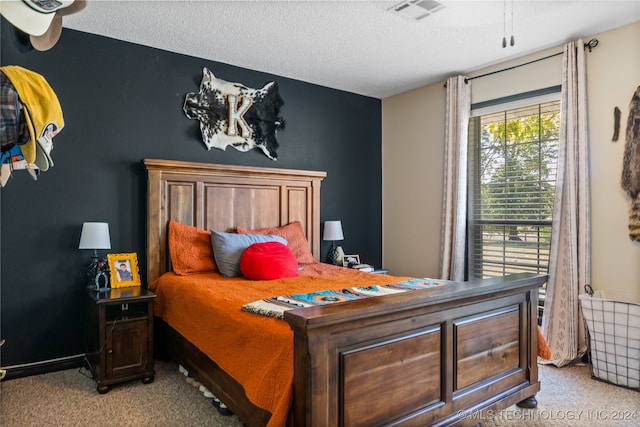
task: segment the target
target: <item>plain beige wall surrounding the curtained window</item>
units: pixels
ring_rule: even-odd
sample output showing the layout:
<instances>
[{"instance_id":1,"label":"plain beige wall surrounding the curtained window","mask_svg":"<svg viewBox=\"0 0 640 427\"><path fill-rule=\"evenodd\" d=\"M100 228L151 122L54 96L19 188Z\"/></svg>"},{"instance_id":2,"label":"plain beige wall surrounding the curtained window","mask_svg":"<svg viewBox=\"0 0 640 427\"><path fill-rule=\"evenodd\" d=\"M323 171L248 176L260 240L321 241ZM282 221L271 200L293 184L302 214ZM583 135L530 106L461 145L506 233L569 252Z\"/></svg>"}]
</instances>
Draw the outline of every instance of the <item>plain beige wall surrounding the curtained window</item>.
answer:
<instances>
[{"instance_id":1,"label":"plain beige wall surrounding the curtained window","mask_svg":"<svg viewBox=\"0 0 640 427\"><path fill-rule=\"evenodd\" d=\"M640 85L640 23L593 37L586 53L591 158L592 286L640 293L640 244L627 235L628 200L620 188L629 101ZM591 37L584 38L587 42ZM478 76L550 54L469 73ZM562 57L471 81L472 102L560 84ZM444 82L383 100L383 263L392 274L438 274L444 159ZM613 108L621 138L611 142Z\"/></svg>"}]
</instances>

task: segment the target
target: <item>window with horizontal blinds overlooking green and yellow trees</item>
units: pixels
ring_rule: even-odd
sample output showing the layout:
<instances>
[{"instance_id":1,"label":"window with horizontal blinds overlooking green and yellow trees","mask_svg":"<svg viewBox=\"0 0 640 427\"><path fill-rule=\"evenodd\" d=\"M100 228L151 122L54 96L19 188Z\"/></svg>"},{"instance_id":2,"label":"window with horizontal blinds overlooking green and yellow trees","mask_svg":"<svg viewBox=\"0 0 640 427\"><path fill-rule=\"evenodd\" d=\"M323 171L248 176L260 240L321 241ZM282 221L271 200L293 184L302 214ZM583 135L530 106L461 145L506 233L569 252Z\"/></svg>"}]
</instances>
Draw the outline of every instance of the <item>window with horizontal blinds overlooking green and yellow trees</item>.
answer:
<instances>
[{"instance_id":1,"label":"window with horizontal blinds overlooking green and yellow trees","mask_svg":"<svg viewBox=\"0 0 640 427\"><path fill-rule=\"evenodd\" d=\"M510 109L472 110L469 279L548 272L560 130L560 101L554 98L557 93Z\"/></svg>"}]
</instances>

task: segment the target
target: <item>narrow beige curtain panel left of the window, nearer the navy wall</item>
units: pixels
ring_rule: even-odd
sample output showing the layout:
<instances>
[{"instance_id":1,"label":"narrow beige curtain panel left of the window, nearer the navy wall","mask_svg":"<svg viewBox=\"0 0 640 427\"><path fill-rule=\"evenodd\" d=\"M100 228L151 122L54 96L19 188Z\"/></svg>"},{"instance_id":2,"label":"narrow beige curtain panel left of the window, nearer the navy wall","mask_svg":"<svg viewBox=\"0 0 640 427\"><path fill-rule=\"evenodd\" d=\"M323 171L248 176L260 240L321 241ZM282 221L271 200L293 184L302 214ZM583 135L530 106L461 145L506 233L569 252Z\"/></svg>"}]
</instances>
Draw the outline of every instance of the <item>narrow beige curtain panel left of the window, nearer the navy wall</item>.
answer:
<instances>
[{"instance_id":1,"label":"narrow beige curtain panel left of the window, nearer the navy wall","mask_svg":"<svg viewBox=\"0 0 640 427\"><path fill-rule=\"evenodd\" d=\"M467 139L471 88L464 76L447 79L447 111L440 277L464 280L467 217Z\"/></svg>"}]
</instances>

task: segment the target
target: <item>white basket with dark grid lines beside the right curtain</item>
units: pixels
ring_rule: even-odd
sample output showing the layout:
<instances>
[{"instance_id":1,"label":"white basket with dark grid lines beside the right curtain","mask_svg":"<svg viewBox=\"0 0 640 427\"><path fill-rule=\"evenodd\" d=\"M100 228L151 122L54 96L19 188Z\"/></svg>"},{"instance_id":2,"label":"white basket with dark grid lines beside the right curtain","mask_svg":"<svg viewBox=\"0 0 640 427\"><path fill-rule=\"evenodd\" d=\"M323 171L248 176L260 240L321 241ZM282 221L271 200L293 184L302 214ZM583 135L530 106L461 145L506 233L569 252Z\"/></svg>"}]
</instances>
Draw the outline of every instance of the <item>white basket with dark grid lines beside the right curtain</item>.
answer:
<instances>
[{"instance_id":1,"label":"white basket with dark grid lines beside the right curtain","mask_svg":"<svg viewBox=\"0 0 640 427\"><path fill-rule=\"evenodd\" d=\"M596 291L579 298L589 332L592 375L640 390L640 295Z\"/></svg>"}]
</instances>

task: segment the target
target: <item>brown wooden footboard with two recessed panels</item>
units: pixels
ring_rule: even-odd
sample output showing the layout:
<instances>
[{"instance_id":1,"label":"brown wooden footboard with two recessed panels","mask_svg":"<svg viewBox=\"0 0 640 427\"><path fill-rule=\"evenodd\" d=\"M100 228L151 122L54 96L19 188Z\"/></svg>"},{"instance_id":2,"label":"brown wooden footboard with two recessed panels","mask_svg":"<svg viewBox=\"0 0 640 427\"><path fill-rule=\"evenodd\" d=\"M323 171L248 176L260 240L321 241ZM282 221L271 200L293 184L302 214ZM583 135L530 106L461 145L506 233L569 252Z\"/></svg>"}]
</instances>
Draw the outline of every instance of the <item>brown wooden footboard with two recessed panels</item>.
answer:
<instances>
[{"instance_id":1,"label":"brown wooden footboard with two recessed panels","mask_svg":"<svg viewBox=\"0 0 640 427\"><path fill-rule=\"evenodd\" d=\"M292 310L296 426L476 424L535 395L537 292L517 274Z\"/></svg>"}]
</instances>

